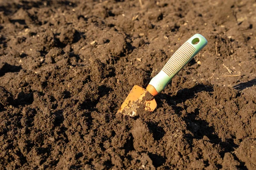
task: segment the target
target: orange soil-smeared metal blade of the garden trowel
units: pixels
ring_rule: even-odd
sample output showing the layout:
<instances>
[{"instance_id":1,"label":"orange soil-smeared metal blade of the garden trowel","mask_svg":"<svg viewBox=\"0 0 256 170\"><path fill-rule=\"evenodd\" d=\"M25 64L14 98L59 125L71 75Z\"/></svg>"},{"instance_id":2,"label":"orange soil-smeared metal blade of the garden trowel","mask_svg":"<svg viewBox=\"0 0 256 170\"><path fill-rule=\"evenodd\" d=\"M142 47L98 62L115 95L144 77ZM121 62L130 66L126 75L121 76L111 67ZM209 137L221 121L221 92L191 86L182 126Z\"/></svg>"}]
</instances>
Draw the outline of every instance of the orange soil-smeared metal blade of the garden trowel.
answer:
<instances>
[{"instance_id":1,"label":"orange soil-smeared metal blade of the garden trowel","mask_svg":"<svg viewBox=\"0 0 256 170\"><path fill-rule=\"evenodd\" d=\"M138 85L135 85L125 101L122 103L120 109L117 113L122 113L129 116L137 116L137 109L143 104L145 105L146 111L154 111L157 107L157 102L154 98L147 100L145 98L146 94L149 93L146 89L141 88Z\"/></svg>"}]
</instances>

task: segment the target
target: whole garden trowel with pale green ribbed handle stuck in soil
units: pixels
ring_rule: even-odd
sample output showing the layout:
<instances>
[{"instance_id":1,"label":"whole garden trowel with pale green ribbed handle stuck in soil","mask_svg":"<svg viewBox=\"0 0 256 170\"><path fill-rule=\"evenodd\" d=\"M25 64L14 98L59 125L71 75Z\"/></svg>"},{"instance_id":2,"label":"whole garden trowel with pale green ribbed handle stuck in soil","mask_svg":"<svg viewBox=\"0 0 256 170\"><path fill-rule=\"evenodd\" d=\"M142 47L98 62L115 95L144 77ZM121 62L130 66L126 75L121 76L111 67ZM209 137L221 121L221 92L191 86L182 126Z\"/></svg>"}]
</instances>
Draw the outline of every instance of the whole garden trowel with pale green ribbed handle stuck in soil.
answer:
<instances>
[{"instance_id":1,"label":"whole garden trowel with pale green ribbed handle stuck in soil","mask_svg":"<svg viewBox=\"0 0 256 170\"><path fill-rule=\"evenodd\" d=\"M159 94L172 78L207 45L207 40L201 34L189 38L172 55L163 69L151 79L146 89L135 85L122 103L117 113L137 116L137 110L143 106L146 111L154 111L157 103L153 96Z\"/></svg>"}]
</instances>

